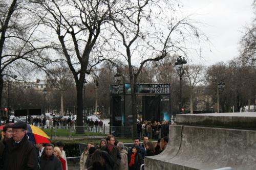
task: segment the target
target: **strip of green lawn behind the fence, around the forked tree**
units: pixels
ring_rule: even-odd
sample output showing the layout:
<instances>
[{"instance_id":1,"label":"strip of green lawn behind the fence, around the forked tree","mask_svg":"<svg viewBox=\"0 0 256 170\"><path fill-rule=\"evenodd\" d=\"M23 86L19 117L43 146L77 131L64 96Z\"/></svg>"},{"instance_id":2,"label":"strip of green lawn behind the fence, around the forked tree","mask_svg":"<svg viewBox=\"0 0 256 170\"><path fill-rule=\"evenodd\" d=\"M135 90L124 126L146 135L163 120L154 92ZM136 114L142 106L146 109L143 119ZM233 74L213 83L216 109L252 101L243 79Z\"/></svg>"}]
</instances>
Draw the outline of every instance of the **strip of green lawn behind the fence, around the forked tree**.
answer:
<instances>
[{"instance_id":1,"label":"strip of green lawn behind the fence, around the forked tree","mask_svg":"<svg viewBox=\"0 0 256 170\"><path fill-rule=\"evenodd\" d=\"M74 137L74 136L104 136L103 133L96 132L84 132L83 134L76 134L75 131L71 131L69 129L42 129L49 137Z\"/></svg>"}]
</instances>

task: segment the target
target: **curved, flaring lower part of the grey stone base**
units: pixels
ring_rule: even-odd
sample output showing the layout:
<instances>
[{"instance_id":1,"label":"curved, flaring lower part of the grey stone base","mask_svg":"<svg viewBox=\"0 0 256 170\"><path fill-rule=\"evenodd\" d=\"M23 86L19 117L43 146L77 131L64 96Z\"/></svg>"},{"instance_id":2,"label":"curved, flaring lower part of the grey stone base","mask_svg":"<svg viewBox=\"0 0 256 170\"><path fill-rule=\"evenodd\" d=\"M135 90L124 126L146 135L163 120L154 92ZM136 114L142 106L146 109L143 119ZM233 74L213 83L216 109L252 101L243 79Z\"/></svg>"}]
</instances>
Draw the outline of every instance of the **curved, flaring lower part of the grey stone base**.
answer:
<instances>
[{"instance_id":1,"label":"curved, flaring lower part of the grey stone base","mask_svg":"<svg viewBox=\"0 0 256 170\"><path fill-rule=\"evenodd\" d=\"M145 157L145 170L256 169L255 153L254 130L174 125L166 149Z\"/></svg>"}]
</instances>

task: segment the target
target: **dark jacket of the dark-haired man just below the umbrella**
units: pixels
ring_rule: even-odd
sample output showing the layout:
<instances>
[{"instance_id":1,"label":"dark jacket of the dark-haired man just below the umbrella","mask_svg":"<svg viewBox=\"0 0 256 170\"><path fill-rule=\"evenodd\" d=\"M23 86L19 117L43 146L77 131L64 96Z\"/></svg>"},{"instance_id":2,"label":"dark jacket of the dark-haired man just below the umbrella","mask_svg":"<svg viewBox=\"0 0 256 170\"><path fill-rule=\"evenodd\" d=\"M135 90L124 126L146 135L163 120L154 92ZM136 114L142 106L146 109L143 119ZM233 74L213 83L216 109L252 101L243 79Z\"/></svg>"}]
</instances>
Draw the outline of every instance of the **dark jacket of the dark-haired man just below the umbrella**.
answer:
<instances>
[{"instance_id":1,"label":"dark jacket of the dark-haired man just below the umbrella","mask_svg":"<svg viewBox=\"0 0 256 170\"><path fill-rule=\"evenodd\" d=\"M47 159L47 155L41 156L40 159L41 170L62 170L59 158L53 154L49 159Z\"/></svg>"}]
</instances>

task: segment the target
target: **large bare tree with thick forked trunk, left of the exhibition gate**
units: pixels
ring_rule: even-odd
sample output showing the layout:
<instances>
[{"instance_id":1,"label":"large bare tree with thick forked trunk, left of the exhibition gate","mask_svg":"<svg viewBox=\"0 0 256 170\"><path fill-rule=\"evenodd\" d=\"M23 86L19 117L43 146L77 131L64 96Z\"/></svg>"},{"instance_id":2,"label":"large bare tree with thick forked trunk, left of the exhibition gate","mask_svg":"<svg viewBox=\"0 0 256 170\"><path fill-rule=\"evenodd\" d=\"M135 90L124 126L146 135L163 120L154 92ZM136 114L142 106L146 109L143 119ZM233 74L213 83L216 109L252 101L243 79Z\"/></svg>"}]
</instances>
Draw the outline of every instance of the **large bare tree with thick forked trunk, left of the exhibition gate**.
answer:
<instances>
[{"instance_id":1,"label":"large bare tree with thick forked trunk, left of the exhibition gate","mask_svg":"<svg viewBox=\"0 0 256 170\"><path fill-rule=\"evenodd\" d=\"M102 62L102 48L106 39L100 36L104 23L109 18L109 8L115 1L72 0L33 1L37 5L36 15L42 23L55 33L56 48L65 57L76 84L77 126L82 126L82 90L86 74ZM77 133L83 133L77 128Z\"/></svg>"}]
</instances>

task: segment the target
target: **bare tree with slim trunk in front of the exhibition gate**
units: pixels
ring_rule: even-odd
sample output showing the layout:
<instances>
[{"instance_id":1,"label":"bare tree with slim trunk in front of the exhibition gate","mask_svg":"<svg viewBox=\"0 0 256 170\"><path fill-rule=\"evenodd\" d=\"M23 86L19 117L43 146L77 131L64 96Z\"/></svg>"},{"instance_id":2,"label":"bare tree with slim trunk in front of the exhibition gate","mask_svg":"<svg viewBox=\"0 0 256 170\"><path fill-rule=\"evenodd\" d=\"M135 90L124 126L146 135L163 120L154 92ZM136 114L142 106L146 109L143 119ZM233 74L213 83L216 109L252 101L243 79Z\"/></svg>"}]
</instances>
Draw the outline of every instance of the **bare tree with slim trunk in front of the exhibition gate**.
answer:
<instances>
[{"instance_id":1,"label":"bare tree with slim trunk in front of the exhibition gate","mask_svg":"<svg viewBox=\"0 0 256 170\"><path fill-rule=\"evenodd\" d=\"M115 44L118 45L113 46L112 50L123 57L129 66L133 135L135 135L137 132L135 89L144 64L159 61L168 53L186 55L187 45L191 38L197 40L204 38L199 35L199 30L193 24L195 22L188 17L181 19L175 17L175 12L177 12L175 6L178 4L173 1L123 0L118 3L122 10L109 8L111 24L115 28L113 34L118 35L114 39ZM135 69L133 63L138 65L138 69Z\"/></svg>"}]
</instances>

